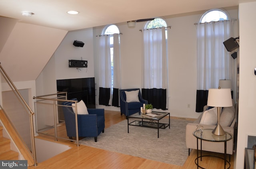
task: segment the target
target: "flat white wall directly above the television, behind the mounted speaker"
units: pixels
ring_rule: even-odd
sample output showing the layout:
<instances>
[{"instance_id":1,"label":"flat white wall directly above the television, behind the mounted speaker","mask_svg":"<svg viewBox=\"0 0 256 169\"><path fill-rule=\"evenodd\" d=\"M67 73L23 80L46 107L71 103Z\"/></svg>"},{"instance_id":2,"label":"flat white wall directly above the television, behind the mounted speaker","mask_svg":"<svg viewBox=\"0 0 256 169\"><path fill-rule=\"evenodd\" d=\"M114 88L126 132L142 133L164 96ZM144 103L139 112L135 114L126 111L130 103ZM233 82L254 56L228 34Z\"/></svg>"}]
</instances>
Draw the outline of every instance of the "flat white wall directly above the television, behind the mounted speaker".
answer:
<instances>
[{"instance_id":1,"label":"flat white wall directly above the television, behind the mounted speaker","mask_svg":"<svg viewBox=\"0 0 256 169\"><path fill-rule=\"evenodd\" d=\"M74 40L84 42L84 47L73 45ZM70 31L55 51L56 79L94 77L92 28ZM86 60L87 68L70 68L68 60Z\"/></svg>"}]
</instances>

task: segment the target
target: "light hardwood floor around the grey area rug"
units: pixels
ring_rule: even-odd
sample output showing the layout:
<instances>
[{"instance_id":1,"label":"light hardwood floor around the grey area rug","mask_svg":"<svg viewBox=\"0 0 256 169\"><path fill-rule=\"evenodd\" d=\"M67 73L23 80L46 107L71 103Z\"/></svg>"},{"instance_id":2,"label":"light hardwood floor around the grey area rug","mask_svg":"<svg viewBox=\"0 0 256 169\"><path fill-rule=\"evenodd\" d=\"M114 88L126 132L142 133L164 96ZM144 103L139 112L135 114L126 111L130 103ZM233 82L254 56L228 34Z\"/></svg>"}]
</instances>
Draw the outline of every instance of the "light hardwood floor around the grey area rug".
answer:
<instances>
[{"instance_id":1,"label":"light hardwood floor around the grey area rug","mask_svg":"<svg viewBox=\"0 0 256 169\"><path fill-rule=\"evenodd\" d=\"M171 117L175 118L175 117ZM105 110L105 126L106 128L125 120L125 116L120 116L120 112ZM193 120L193 119L187 119ZM47 131L48 134L54 131ZM66 137L65 125L58 128L58 135ZM52 137L40 135L38 138L54 141ZM192 150L183 166L171 165L143 159L140 157L133 157L85 145L76 146L74 142L68 140L58 139L58 142L68 144L72 148L48 159L37 166L28 167L28 169L196 169L195 159L196 150ZM203 152L204 155L217 155L223 157L223 154ZM216 157L204 157L199 162L200 165L207 169L222 169L224 168L224 161ZM234 169L234 155L231 156L231 167ZM228 167L228 165L226 166Z\"/></svg>"}]
</instances>

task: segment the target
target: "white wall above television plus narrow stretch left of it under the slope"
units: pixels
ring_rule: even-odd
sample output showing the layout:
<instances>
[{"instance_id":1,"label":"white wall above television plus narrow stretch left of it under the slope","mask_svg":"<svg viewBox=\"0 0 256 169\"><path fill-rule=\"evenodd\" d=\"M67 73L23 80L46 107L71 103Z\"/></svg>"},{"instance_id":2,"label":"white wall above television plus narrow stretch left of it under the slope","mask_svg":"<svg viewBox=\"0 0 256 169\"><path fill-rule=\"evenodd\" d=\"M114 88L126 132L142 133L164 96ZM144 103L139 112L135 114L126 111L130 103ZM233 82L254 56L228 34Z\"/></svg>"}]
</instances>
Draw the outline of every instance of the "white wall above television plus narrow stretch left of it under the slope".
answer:
<instances>
[{"instance_id":1,"label":"white wall above television plus narrow stretch left of it under the slope","mask_svg":"<svg viewBox=\"0 0 256 169\"><path fill-rule=\"evenodd\" d=\"M84 42L84 47L73 45L74 40ZM56 80L94 77L92 28L70 31L36 79L36 94L57 92ZM68 60L86 60L87 68L68 67Z\"/></svg>"}]
</instances>

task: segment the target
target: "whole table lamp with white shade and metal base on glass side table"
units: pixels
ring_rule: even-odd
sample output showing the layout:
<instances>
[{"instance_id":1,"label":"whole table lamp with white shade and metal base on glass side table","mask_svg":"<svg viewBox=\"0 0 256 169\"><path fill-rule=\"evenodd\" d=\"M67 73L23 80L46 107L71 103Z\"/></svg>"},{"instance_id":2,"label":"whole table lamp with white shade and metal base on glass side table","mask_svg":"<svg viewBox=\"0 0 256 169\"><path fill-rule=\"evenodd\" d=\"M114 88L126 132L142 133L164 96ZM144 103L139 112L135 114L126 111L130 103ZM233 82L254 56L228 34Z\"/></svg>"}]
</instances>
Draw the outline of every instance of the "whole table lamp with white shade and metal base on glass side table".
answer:
<instances>
[{"instance_id":1,"label":"whole table lamp with white shade and metal base on glass side table","mask_svg":"<svg viewBox=\"0 0 256 169\"><path fill-rule=\"evenodd\" d=\"M217 136L226 134L223 128L220 126L220 112L222 107L232 106L230 88L210 88L208 90L207 106L217 107L218 110L218 124L212 133Z\"/></svg>"}]
</instances>

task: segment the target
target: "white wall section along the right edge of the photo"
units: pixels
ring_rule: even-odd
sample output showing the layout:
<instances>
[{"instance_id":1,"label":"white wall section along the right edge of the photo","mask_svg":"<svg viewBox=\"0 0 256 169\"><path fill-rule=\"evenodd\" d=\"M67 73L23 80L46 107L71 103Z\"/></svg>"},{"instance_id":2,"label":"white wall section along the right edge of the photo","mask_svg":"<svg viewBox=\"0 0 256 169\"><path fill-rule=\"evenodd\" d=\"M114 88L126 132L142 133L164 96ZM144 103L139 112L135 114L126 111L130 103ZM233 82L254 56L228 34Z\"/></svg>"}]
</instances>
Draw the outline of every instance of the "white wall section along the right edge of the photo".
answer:
<instances>
[{"instance_id":1,"label":"white wall section along the right edge of the photo","mask_svg":"<svg viewBox=\"0 0 256 169\"><path fill-rule=\"evenodd\" d=\"M239 76L239 114L236 169L244 168L244 148L247 137L256 136L256 2L239 4L240 33L240 76Z\"/></svg>"}]
</instances>

